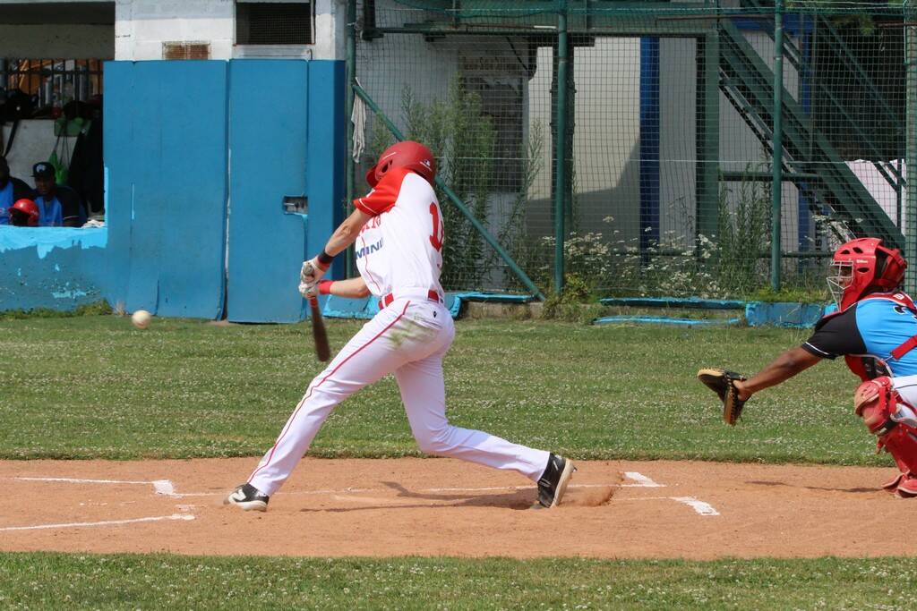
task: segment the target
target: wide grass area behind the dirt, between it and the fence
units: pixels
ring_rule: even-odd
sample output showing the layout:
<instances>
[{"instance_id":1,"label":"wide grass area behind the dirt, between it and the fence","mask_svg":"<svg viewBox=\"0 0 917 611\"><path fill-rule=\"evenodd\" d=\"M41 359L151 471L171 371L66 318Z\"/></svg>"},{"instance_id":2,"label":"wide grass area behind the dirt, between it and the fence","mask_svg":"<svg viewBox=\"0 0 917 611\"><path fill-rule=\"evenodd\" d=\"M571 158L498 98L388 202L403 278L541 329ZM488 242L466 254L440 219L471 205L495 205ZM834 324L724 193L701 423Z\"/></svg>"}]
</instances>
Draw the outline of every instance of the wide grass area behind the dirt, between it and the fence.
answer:
<instances>
[{"instance_id":1,"label":"wide grass area behind the dirt, between it and the fence","mask_svg":"<svg viewBox=\"0 0 917 611\"><path fill-rule=\"evenodd\" d=\"M329 322L333 348L357 322ZM459 426L592 459L890 464L854 416L856 379L825 362L746 407L735 428L695 378L753 372L806 332L458 322L445 364ZM313 376L306 324L233 325L85 316L0 321L6 355L0 457L258 455ZM349 398L312 448L417 454L391 377Z\"/></svg>"}]
</instances>

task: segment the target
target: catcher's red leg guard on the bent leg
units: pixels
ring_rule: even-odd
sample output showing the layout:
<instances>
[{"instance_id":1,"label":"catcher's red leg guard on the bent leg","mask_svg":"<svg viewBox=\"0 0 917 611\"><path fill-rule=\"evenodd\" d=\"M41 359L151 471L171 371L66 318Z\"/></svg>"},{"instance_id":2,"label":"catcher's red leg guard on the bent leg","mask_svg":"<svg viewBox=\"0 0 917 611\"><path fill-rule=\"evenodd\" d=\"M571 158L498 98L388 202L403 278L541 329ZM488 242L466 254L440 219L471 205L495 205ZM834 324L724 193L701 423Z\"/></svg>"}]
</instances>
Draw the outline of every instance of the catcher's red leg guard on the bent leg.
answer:
<instances>
[{"instance_id":1,"label":"catcher's red leg guard on the bent leg","mask_svg":"<svg viewBox=\"0 0 917 611\"><path fill-rule=\"evenodd\" d=\"M856 388L856 415L863 419L869 432L878 437L878 450L884 449L908 477L917 474L917 429L895 420L898 413L898 391L887 376L864 382Z\"/></svg>"}]
</instances>

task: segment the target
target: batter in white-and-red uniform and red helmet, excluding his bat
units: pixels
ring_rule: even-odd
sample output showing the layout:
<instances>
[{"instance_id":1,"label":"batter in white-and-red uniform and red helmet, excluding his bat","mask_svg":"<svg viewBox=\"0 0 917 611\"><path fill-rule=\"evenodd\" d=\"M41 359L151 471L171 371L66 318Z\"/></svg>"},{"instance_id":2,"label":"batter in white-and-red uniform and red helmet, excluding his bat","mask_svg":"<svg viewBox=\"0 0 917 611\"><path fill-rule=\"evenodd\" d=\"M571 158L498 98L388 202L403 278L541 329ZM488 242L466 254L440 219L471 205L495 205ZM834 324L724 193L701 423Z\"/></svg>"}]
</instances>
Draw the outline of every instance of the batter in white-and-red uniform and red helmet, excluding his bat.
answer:
<instances>
[{"instance_id":1,"label":"batter in white-and-red uniform and red helmet, excluding his bat","mask_svg":"<svg viewBox=\"0 0 917 611\"><path fill-rule=\"evenodd\" d=\"M443 356L455 328L439 284L446 236L433 190L435 176L427 147L410 141L389 147L366 174L370 193L354 201L356 209L325 250L304 262L299 287L304 297L371 294L380 311L312 380L277 442L226 504L266 511L269 498L293 472L331 410L388 374L398 382L421 451L518 471L537 483L542 506L560 503L575 470L569 460L459 429L446 418ZM333 257L351 244L359 278L323 280Z\"/></svg>"}]
</instances>

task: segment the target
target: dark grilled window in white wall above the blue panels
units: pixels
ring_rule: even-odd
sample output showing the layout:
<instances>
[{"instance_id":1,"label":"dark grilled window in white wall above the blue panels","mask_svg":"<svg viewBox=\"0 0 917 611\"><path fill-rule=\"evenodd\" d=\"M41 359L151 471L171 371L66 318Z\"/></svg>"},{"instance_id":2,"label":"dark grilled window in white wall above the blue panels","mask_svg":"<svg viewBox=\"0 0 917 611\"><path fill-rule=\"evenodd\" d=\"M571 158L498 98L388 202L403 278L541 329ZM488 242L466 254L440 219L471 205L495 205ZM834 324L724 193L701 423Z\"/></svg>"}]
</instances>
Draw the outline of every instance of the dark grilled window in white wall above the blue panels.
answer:
<instances>
[{"instance_id":1,"label":"dark grilled window in white wall above the blue panels","mask_svg":"<svg viewBox=\"0 0 917 611\"><path fill-rule=\"evenodd\" d=\"M311 45L315 42L312 2L238 0L237 45Z\"/></svg>"}]
</instances>

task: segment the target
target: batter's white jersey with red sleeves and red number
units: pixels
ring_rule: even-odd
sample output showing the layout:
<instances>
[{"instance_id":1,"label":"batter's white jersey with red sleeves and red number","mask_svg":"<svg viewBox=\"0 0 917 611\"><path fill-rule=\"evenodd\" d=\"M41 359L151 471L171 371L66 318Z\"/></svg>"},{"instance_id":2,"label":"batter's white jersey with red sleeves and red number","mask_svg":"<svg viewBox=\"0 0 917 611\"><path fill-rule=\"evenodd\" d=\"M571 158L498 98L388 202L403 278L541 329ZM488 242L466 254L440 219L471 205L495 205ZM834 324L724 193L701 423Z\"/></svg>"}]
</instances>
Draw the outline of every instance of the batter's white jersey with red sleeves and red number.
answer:
<instances>
[{"instance_id":1,"label":"batter's white jersey with red sleeves and red number","mask_svg":"<svg viewBox=\"0 0 917 611\"><path fill-rule=\"evenodd\" d=\"M353 204L373 217L354 244L359 275L370 292L377 298L399 290L442 295L443 216L430 183L394 168Z\"/></svg>"}]
</instances>

